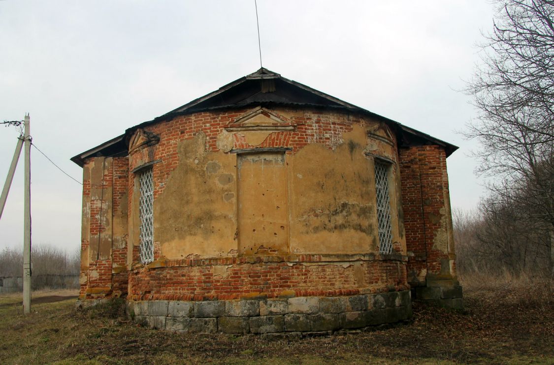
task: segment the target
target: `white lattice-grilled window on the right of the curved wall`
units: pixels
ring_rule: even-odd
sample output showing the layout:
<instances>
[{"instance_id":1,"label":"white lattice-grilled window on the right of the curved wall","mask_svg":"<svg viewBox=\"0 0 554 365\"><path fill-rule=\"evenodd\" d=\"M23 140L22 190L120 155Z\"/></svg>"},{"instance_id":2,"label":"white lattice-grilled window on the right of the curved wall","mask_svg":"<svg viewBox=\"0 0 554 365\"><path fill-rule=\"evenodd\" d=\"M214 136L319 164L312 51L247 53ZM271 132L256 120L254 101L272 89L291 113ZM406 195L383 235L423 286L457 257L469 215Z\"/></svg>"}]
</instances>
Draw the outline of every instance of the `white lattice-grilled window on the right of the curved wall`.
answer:
<instances>
[{"instance_id":1,"label":"white lattice-grilled window on the right of the curved wall","mask_svg":"<svg viewBox=\"0 0 554 365\"><path fill-rule=\"evenodd\" d=\"M377 195L377 224L379 253L392 252L391 204L388 192L389 164L375 161L375 189Z\"/></svg>"}]
</instances>

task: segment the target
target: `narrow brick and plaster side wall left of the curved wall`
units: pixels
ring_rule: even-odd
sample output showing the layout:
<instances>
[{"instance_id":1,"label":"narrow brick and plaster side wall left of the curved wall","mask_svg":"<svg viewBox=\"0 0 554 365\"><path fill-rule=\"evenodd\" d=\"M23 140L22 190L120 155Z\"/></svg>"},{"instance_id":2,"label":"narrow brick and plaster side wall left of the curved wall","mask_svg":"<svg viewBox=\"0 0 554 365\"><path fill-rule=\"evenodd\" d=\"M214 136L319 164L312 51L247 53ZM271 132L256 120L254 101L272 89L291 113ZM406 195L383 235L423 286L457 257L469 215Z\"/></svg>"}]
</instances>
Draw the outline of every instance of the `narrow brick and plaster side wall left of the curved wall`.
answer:
<instances>
[{"instance_id":1,"label":"narrow brick and plaster side wall left of the curved wall","mask_svg":"<svg viewBox=\"0 0 554 365\"><path fill-rule=\"evenodd\" d=\"M127 293L127 158L99 157L83 166L80 298Z\"/></svg>"}]
</instances>

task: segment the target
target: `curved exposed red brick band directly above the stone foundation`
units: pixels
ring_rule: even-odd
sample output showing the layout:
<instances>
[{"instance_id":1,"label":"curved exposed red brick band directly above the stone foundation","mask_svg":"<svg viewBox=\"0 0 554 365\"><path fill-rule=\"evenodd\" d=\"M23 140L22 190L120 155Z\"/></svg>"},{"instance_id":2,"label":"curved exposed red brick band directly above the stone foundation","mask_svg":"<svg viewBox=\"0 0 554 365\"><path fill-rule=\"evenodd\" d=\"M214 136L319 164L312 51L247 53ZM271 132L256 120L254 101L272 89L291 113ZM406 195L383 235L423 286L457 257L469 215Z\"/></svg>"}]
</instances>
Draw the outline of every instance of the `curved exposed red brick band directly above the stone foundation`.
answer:
<instances>
[{"instance_id":1,"label":"curved exposed red brick band directly above the stone foundation","mask_svg":"<svg viewBox=\"0 0 554 365\"><path fill-rule=\"evenodd\" d=\"M141 268L129 275L132 300L211 300L281 295L337 296L406 290L406 265L396 260L321 262L317 255L301 262L263 257L168 260L163 267ZM307 265L305 262L310 262ZM214 271L214 267L226 265ZM358 269L356 269L358 265ZM224 272L223 275L220 273ZM360 281L360 274L363 281Z\"/></svg>"}]
</instances>

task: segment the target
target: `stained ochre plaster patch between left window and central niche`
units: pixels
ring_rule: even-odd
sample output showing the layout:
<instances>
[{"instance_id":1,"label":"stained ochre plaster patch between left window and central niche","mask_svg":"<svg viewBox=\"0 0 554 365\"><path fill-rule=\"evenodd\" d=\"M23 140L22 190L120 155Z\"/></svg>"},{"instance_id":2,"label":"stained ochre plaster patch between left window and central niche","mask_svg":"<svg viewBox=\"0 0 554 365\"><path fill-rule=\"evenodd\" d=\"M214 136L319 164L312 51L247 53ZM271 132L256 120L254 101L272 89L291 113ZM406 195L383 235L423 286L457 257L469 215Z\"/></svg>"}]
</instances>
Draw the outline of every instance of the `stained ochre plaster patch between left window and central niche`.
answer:
<instances>
[{"instance_id":1,"label":"stained ochre plaster patch between left window and central niche","mask_svg":"<svg viewBox=\"0 0 554 365\"><path fill-rule=\"evenodd\" d=\"M235 156L207 152L205 143L206 134L198 133L178 144L177 168L155 201L155 241L166 258L220 256L237 248Z\"/></svg>"}]
</instances>

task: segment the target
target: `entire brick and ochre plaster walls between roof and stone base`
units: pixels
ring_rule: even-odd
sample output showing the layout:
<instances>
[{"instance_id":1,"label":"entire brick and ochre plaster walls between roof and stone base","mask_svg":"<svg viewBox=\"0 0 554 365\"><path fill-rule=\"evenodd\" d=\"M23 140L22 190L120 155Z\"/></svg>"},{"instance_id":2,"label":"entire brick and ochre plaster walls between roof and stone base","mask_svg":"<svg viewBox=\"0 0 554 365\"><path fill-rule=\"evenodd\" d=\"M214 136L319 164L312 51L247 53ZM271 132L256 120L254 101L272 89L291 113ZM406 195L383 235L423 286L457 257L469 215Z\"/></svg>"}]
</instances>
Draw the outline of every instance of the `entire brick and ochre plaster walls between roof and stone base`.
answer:
<instances>
[{"instance_id":1,"label":"entire brick and ochre plaster walls between roof and stone base","mask_svg":"<svg viewBox=\"0 0 554 365\"><path fill-rule=\"evenodd\" d=\"M389 166L392 254L379 253L376 160ZM139 262L144 169L152 169L154 197L155 260L147 265ZM443 275L447 262L454 272L447 179L444 150L399 156L387 126L347 113L248 108L148 125L129 140L128 157L84 166L81 298L406 290L410 275ZM424 230L434 235L421 238L418 209L427 200ZM432 254L418 256L422 242Z\"/></svg>"}]
</instances>

